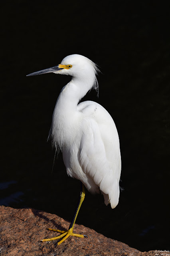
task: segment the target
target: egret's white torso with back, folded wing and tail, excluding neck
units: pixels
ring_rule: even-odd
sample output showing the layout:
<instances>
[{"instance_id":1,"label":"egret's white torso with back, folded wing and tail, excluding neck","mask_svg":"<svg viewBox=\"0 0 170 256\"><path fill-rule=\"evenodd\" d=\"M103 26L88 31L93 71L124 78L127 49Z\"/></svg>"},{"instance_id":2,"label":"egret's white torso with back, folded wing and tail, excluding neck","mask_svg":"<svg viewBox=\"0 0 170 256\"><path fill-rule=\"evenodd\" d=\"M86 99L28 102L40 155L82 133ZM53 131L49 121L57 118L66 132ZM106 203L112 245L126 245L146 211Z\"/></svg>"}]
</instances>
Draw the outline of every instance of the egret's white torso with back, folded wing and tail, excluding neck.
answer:
<instances>
[{"instance_id":1,"label":"egret's white torso with back, folded wing and tail, excluding neck","mask_svg":"<svg viewBox=\"0 0 170 256\"><path fill-rule=\"evenodd\" d=\"M77 105L81 113L80 133L71 147L63 150L67 173L80 179L92 193L102 191L105 204L119 202L121 154L119 136L109 113L98 103ZM69 155L69 157L68 157ZM77 157L78 156L78 157Z\"/></svg>"}]
</instances>

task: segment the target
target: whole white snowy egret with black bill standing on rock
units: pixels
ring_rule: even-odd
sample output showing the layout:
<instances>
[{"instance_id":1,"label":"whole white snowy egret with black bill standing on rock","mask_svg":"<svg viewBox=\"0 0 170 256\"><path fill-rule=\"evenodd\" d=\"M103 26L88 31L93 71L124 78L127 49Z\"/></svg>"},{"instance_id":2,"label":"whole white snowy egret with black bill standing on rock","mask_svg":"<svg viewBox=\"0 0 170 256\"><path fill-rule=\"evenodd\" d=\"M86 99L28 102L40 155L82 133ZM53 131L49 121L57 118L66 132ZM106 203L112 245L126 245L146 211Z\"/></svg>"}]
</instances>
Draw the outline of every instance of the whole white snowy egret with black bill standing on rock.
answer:
<instances>
[{"instance_id":1,"label":"whole white snowy egret with black bill standing on rock","mask_svg":"<svg viewBox=\"0 0 170 256\"><path fill-rule=\"evenodd\" d=\"M79 54L65 57L61 64L31 73L71 75L71 81L61 90L53 112L50 136L56 150L63 152L63 161L70 177L81 181L81 192L73 220L67 231L55 238L87 237L73 233L73 227L81 204L85 198L84 186L91 193L101 193L105 204L115 208L119 202L119 179L121 175L121 153L119 136L112 117L101 105L93 101L79 101L94 88L98 90L95 63Z\"/></svg>"}]
</instances>

